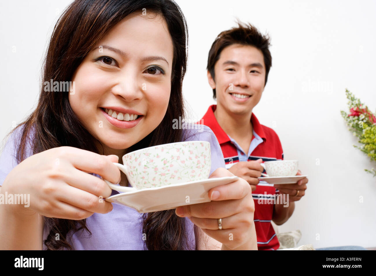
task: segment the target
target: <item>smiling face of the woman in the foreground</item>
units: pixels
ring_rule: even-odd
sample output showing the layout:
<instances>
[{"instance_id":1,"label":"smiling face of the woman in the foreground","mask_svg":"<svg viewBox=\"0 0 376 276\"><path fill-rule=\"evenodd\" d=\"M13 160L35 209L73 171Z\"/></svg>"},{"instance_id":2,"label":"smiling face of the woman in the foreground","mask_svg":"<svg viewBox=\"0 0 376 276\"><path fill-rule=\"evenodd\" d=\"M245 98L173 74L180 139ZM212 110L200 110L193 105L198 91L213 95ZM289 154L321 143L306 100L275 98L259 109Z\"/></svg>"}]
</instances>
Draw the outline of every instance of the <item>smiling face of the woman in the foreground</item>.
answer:
<instances>
[{"instance_id":1,"label":"smiling face of the woman in the foreground","mask_svg":"<svg viewBox=\"0 0 376 276\"><path fill-rule=\"evenodd\" d=\"M172 62L165 21L141 14L116 24L85 57L74 73L69 102L105 154L121 156L161 123L170 98Z\"/></svg>"}]
</instances>

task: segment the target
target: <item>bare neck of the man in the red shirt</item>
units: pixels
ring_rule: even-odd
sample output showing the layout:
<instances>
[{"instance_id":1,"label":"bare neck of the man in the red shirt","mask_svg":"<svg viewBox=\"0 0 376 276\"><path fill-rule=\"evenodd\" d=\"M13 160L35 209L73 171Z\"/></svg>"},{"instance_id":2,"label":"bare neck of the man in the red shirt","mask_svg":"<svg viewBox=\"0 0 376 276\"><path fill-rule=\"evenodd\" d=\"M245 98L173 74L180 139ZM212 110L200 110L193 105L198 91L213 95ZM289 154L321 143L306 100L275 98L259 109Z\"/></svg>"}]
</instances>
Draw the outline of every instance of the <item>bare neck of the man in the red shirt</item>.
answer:
<instances>
[{"instance_id":1,"label":"bare neck of the man in the red shirt","mask_svg":"<svg viewBox=\"0 0 376 276\"><path fill-rule=\"evenodd\" d=\"M217 105L214 111L220 127L227 135L236 140L237 137L250 136L252 139L253 127L251 123L252 110L246 115L229 114L223 107Z\"/></svg>"}]
</instances>

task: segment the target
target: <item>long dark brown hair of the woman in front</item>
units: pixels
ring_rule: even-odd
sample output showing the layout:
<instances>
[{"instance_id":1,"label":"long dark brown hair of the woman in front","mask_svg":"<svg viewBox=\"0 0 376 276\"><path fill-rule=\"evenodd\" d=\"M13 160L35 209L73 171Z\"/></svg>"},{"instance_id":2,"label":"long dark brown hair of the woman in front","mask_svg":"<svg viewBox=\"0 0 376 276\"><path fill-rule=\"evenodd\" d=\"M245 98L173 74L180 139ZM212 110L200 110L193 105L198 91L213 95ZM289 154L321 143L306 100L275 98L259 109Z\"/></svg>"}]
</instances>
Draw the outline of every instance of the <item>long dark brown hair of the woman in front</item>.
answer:
<instances>
[{"instance_id":1,"label":"long dark brown hair of the woman in front","mask_svg":"<svg viewBox=\"0 0 376 276\"><path fill-rule=\"evenodd\" d=\"M35 131L33 154L60 146L104 154L103 148L96 148L95 138L71 109L68 92L45 92L42 84L51 79L71 81L77 67L100 39L124 17L133 12L142 12L144 8L164 18L173 41L171 94L161 124L129 150L181 141L182 130L172 128L173 119L179 116L183 118L184 115L182 81L188 52L188 28L179 6L172 0L76 0L65 9L54 27L44 60L38 106L17 126L24 124L17 149L18 163L25 158L30 131ZM189 247L185 219L177 217L174 210L147 213L143 219L143 233L147 236L144 245L147 249L179 250ZM91 234L86 227L86 219L77 221L45 217L45 223L50 229L44 240L48 250L72 249L68 235L79 230ZM55 239L56 233L60 234L60 240Z\"/></svg>"}]
</instances>

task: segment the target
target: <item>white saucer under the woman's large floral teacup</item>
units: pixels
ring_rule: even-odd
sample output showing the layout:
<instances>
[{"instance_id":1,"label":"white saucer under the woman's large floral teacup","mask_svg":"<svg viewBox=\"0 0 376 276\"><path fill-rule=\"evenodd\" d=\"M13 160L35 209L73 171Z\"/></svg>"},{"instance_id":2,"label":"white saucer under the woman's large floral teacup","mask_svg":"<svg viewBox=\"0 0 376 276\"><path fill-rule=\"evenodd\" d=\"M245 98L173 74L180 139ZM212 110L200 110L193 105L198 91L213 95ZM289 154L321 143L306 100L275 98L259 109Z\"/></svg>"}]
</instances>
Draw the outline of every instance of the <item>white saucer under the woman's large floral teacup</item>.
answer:
<instances>
[{"instance_id":1,"label":"white saucer under the woman's large floral teacup","mask_svg":"<svg viewBox=\"0 0 376 276\"><path fill-rule=\"evenodd\" d=\"M106 201L131 207L139 213L174 209L183 205L209 202L210 189L237 179L238 176L226 176L134 190L110 196Z\"/></svg>"}]
</instances>

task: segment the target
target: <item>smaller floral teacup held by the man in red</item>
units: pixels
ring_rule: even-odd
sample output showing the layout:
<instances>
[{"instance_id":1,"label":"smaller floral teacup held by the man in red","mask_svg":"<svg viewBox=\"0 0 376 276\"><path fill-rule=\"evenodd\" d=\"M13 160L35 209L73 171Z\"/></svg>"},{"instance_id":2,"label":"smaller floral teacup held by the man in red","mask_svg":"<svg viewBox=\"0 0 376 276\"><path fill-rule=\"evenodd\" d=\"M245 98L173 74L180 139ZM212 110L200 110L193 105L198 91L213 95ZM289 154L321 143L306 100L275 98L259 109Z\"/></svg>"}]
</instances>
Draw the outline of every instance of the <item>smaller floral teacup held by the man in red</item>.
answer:
<instances>
[{"instance_id":1,"label":"smaller floral teacup held by the man in red","mask_svg":"<svg viewBox=\"0 0 376 276\"><path fill-rule=\"evenodd\" d=\"M298 160L276 160L261 163L266 170L264 176L294 176L298 172Z\"/></svg>"}]
</instances>

